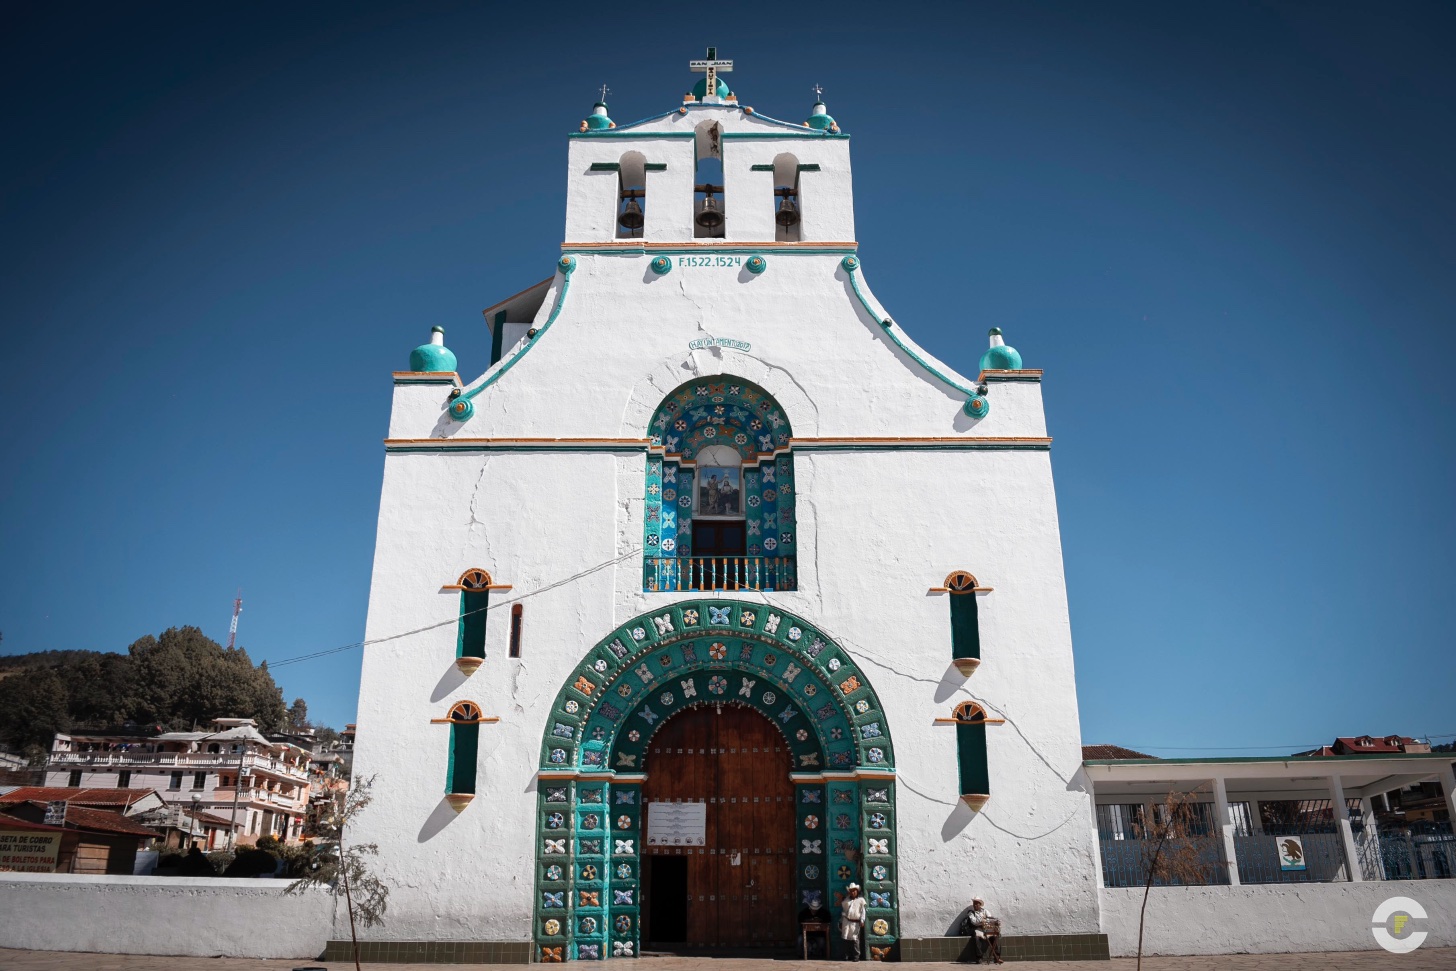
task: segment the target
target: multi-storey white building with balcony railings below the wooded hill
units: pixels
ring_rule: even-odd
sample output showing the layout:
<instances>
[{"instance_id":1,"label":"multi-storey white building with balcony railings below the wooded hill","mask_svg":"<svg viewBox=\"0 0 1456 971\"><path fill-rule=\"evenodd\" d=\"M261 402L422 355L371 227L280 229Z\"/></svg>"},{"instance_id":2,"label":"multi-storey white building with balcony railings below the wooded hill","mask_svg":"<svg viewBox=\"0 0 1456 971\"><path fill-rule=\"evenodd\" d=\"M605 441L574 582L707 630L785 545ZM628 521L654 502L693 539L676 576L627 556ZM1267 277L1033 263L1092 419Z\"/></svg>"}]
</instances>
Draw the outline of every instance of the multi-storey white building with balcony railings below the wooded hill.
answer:
<instances>
[{"instance_id":1,"label":"multi-storey white building with balcony railings below the wooded hill","mask_svg":"<svg viewBox=\"0 0 1456 971\"><path fill-rule=\"evenodd\" d=\"M310 753L265 738L250 718L213 725L208 732L58 734L45 785L156 789L170 805L227 820L234 843L297 840L309 808ZM226 830L207 837L208 849L220 841Z\"/></svg>"}]
</instances>

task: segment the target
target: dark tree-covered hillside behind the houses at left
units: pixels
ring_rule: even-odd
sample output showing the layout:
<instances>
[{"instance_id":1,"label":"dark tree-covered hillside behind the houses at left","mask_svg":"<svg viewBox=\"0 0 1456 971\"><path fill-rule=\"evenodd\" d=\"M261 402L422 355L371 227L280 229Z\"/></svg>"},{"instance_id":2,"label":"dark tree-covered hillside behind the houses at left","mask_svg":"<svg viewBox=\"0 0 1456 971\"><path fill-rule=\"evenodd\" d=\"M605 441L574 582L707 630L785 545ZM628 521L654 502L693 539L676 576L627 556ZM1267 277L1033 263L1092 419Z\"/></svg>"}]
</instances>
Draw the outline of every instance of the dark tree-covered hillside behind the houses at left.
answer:
<instances>
[{"instance_id":1,"label":"dark tree-covered hillside behind the houses at left","mask_svg":"<svg viewBox=\"0 0 1456 971\"><path fill-rule=\"evenodd\" d=\"M127 654L0 657L0 745L32 756L77 726L185 729L252 718L262 731L290 731L306 712L301 699L293 712L284 705L266 661L253 665L248 651L229 651L197 627L147 635Z\"/></svg>"}]
</instances>

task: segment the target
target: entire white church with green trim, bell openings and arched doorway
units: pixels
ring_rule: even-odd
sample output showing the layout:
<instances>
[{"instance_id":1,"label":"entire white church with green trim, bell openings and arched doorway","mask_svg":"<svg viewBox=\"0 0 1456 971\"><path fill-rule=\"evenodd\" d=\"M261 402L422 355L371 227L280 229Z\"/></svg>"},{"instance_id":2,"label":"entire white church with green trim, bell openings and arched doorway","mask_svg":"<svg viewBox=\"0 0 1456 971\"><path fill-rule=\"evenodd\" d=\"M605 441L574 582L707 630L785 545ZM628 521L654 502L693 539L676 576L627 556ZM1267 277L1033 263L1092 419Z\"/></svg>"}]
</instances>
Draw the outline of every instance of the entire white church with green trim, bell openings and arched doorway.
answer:
<instances>
[{"instance_id":1,"label":"entire white church with green trim, bell openings and arched doorway","mask_svg":"<svg viewBox=\"0 0 1456 971\"><path fill-rule=\"evenodd\" d=\"M460 619L365 649L384 936L783 946L856 882L866 956L973 894L1095 938L1041 371L917 346L849 135L713 74L571 137L483 376L395 376L367 639Z\"/></svg>"}]
</instances>

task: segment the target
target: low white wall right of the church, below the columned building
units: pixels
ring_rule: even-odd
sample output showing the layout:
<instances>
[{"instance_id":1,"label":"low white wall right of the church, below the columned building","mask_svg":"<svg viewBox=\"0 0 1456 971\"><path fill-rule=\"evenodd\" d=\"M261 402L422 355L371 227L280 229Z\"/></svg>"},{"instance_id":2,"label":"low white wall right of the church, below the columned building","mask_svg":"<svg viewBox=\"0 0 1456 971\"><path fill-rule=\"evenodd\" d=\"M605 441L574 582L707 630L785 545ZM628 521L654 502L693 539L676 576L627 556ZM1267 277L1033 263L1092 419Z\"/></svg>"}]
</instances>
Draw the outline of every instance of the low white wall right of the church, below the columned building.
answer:
<instances>
[{"instance_id":1,"label":"low white wall right of the church, below the columned building","mask_svg":"<svg viewBox=\"0 0 1456 971\"><path fill-rule=\"evenodd\" d=\"M1390 897L1425 907L1421 949L1456 945L1456 879L1258 887L1155 887L1143 954L1374 951L1372 914ZM1137 954L1142 888L1102 888L1102 933L1112 956Z\"/></svg>"}]
</instances>

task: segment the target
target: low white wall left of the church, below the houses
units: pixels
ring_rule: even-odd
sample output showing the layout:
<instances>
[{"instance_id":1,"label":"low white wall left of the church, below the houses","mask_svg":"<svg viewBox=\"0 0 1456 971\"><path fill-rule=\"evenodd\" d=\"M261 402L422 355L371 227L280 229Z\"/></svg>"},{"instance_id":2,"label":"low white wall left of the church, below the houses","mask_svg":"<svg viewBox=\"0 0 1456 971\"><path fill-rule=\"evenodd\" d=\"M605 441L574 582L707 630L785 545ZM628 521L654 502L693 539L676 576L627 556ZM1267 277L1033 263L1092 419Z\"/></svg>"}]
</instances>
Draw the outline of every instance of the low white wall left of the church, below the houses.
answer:
<instances>
[{"instance_id":1,"label":"low white wall left of the church, below the houses","mask_svg":"<svg viewBox=\"0 0 1456 971\"><path fill-rule=\"evenodd\" d=\"M323 891L287 881L0 873L0 948L316 958L332 936Z\"/></svg>"}]
</instances>

